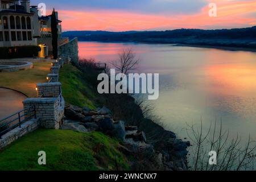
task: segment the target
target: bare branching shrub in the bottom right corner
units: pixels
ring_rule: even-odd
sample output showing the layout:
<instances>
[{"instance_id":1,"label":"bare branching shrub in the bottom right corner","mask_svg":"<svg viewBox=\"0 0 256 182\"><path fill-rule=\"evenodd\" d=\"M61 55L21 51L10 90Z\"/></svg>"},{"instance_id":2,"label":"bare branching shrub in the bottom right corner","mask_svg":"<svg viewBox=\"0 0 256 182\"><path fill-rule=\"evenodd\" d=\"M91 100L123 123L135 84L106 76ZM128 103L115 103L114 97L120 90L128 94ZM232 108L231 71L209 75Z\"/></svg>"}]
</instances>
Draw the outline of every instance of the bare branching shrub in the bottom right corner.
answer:
<instances>
[{"instance_id":1,"label":"bare branching shrub in the bottom right corner","mask_svg":"<svg viewBox=\"0 0 256 182\"><path fill-rule=\"evenodd\" d=\"M241 138L229 138L229 131L223 131L222 122L217 129L217 121L214 127L210 125L209 130L203 132L203 122L200 129L194 125L189 126L187 134L193 143L189 159L193 171L241 171L254 170L255 167L255 142L250 137L242 147ZM229 142L230 141L230 142ZM209 151L216 151L217 164L209 165Z\"/></svg>"}]
</instances>

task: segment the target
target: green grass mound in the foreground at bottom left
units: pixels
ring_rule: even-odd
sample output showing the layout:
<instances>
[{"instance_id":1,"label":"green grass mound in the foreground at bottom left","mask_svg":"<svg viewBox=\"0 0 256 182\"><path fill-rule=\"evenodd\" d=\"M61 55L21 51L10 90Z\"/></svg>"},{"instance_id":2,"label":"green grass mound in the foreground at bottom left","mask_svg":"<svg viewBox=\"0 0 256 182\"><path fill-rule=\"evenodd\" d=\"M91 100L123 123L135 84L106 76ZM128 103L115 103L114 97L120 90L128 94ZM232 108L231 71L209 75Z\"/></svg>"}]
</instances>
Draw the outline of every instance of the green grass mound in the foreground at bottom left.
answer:
<instances>
[{"instance_id":1,"label":"green grass mound in the foreground at bottom left","mask_svg":"<svg viewBox=\"0 0 256 182\"><path fill-rule=\"evenodd\" d=\"M0 151L0 171L129 169L118 144L102 133L39 129ZM45 166L38 164L39 151L46 152Z\"/></svg>"}]
</instances>

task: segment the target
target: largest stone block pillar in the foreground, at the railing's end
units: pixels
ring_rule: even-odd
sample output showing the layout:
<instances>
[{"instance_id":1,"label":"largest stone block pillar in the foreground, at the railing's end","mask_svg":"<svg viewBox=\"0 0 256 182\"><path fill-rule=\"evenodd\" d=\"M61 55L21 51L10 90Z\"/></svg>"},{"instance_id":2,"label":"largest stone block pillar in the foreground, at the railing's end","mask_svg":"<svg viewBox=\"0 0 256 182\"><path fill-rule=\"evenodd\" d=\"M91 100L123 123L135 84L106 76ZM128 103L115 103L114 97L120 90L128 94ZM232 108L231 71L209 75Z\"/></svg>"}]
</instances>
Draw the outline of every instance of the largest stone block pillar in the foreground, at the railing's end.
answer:
<instances>
[{"instance_id":1,"label":"largest stone block pillar in the foreground, at the railing's end","mask_svg":"<svg viewBox=\"0 0 256 182\"><path fill-rule=\"evenodd\" d=\"M35 106L36 118L40 118L40 126L59 129L64 117L64 107L59 106L59 98L27 98L23 101L24 109L30 106ZM28 111L25 110L25 113ZM30 118L32 114L34 113L26 114L25 118Z\"/></svg>"}]
</instances>

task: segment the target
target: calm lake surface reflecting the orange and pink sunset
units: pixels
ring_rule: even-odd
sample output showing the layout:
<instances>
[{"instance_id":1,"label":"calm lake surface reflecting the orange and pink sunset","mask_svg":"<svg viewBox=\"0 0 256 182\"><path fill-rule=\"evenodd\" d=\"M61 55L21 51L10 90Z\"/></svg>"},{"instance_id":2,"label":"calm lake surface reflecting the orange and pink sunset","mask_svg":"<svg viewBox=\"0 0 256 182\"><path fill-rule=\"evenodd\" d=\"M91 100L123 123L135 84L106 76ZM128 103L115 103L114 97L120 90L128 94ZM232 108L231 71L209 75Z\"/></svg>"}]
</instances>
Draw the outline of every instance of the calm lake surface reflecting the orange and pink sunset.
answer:
<instances>
[{"instance_id":1,"label":"calm lake surface reflecting the orange and pink sunset","mask_svg":"<svg viewBox=\"0 0 256 182\"><path fill-rule=\"evenodd\" d=\"M80 42L79 55L109 63L133 48L138 72L159 73L159 99L150 101L166 129L187 137L192 123L204 129L222 120L231 137L256 140L256 53L171 44Z\"/></svg>"}]
</instances>

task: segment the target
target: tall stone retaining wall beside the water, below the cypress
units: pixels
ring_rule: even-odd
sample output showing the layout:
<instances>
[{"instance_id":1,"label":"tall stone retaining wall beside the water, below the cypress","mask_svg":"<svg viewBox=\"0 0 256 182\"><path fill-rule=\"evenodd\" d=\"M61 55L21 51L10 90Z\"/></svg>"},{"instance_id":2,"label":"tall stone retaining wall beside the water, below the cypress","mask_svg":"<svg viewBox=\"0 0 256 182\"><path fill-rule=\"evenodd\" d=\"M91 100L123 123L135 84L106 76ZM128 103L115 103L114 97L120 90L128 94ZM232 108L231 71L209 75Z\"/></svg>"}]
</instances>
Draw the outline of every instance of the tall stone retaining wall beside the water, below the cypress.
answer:
<instances>
[{"instance_id":1,"label":"tall stone retaining wall beside the water, below the cypress","mask_svg":"<svg viewBox=\"0 0 256 182\"><path fill-rule=\"evenodd\" d=\"M70 40L68 43L59 46L59 55L68 53L73 63L78 63L79 51L77 38Z\"/></svg>"}]
</instances>

